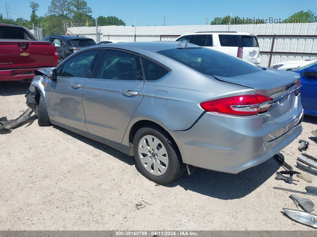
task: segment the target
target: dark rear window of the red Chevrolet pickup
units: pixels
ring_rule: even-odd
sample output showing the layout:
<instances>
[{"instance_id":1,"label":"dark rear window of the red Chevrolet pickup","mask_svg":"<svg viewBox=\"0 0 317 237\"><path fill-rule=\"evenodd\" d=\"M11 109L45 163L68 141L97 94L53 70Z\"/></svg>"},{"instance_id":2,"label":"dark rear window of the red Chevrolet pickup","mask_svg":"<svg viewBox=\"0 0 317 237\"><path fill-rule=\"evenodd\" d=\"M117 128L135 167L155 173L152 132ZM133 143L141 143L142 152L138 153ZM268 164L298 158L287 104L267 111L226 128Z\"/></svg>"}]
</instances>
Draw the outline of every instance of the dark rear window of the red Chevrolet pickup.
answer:
<instances>
[{"instance_id":1,"label":"dark rear window of the red Chevrolet pickup","mask_svg":"<svg viewBox=\"0 0 317 237\"><path fill-rule=\"evenodd\" d=\"M37 40L24 28L14 26L0 26L0 39Z\"/></svg>"}]
</instances>

